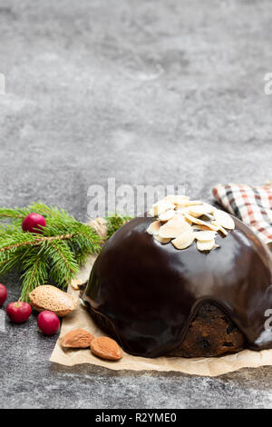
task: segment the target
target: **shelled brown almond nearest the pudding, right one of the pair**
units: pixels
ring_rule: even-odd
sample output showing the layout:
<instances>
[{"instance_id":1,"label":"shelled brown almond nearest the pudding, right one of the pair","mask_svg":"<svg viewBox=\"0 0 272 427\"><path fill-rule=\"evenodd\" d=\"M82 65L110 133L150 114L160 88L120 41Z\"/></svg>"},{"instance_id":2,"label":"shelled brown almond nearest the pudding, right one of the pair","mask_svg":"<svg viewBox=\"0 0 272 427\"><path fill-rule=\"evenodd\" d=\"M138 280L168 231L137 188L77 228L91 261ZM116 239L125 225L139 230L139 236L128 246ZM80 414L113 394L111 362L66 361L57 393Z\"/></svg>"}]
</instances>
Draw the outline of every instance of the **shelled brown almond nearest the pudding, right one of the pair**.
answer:
<instances>
[{"instance_id":1,"label":"shelled brown almond nearest the pudding, right one of the pair","mask_svg":"<svg viewBox=\"0 0 272 427\"><path fill-rule=\"evenodd\" d=\"M122 356L118 343L107 336L94 338L91 343L91 351L95 356L108 361L118 361Z\"/></svg>"}]
</instances>

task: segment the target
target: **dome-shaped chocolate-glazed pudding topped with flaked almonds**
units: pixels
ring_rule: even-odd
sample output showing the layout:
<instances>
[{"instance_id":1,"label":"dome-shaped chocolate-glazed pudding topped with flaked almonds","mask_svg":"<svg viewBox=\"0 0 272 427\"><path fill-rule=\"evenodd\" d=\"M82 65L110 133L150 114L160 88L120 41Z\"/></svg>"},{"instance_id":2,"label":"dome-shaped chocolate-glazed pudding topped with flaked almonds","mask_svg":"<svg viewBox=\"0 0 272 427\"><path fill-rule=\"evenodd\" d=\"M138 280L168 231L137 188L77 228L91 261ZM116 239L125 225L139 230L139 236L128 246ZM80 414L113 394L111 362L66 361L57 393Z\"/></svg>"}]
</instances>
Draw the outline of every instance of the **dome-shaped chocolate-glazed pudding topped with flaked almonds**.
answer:
<instances>
[{"instance_id":1,"label":"dome-shaped chocolate-glazed pudding topped with flaked almonds","mask_svg":"<svg viewBox=\"0 0 272 427\"><path fill-rule=\"evenodd\" d=\"M208 357L272 348L272 259L237 218L168 196L124 224L93 265L83 300L127 353Z\"/></svg>"}]
</instances>

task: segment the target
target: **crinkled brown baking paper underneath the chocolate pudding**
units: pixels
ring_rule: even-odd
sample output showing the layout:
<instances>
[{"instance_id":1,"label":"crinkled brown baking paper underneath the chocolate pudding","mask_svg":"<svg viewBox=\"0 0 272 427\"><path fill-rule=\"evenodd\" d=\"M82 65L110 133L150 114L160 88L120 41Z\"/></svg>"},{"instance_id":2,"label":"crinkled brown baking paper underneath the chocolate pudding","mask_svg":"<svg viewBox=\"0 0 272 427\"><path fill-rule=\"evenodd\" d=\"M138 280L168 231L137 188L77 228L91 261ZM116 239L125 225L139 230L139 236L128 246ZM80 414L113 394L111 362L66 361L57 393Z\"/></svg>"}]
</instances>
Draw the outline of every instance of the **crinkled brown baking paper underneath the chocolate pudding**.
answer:
<instances>
[{"instance_id":1,"label":"crinkled brown baking paper underneath the chocolate pudding","mask_svg":"<svg viewBox=\"0 0 272 427\"><path fill-rule=\"evenodd\" d=\"M100 224L101 226L101 224ZM81 269L78 279L82 282L88 280L92 270L92 264L95 256L90 256L86 265ZM79 296L79 291L74 291L69 286L68 293ZM63 349L61 346L62 337L74 329L83 328L94 336L102 336L105 333L93 323L90 314L79 304L77 310L63 318L62 331L57 341L51 359L51 362L63 364L65 366L74 366L81 363L90 363L114 371L158 371L158 372L183 372L191 375L200 376L218 376L223 373L238 371L241 368L257 368L259 366L272 365L272 350L262 352L252 352L244 350L236 354L213 358L185 359L182 357L157 357L148 359L144 357L131 356L123 353L121 361L108 362L93 356L89 349L70 350Z\"/></svg>"}]
</instances>

